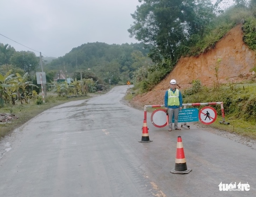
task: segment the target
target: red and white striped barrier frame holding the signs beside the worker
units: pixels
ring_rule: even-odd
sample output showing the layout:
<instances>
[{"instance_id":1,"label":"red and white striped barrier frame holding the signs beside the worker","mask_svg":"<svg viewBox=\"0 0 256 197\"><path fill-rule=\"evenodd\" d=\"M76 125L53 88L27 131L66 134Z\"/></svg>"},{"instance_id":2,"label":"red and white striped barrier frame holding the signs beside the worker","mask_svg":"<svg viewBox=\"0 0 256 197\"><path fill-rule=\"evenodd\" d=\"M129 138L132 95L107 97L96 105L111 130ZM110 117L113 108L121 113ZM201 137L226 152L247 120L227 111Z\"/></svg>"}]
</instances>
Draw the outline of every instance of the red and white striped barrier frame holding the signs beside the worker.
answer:
<instances>
[{"instance_id":1,"label":"red and white striped barrier frame holding the signs beside the worker","mask_svg":"<svg viewBox=\"0 0 256 197\"><path fill-rule=\"evenodd\" d=\"M221 105L222 121L220 121L219 123L229 124L229 123L225 122L225 113L224 113L223 102L186 103L186 104L182 104L182 106L184 106L184 109L186 109L186 106L200 106L200 105ZM164 107L164 105L144 105L144 119L147 119L147 108L159 108L159 107Z\"/></svg>"}]
</instances>

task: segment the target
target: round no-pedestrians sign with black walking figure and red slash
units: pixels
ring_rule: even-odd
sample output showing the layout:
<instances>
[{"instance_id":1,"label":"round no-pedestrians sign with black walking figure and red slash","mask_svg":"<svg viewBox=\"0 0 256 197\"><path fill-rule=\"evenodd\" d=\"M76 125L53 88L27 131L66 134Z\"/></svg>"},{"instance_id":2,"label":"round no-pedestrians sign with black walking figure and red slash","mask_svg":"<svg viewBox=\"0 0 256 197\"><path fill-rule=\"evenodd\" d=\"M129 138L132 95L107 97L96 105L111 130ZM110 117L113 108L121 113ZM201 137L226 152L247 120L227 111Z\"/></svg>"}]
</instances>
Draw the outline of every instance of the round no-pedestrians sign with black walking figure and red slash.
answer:
<instances>
[{"instance_id":1,"label":"round no-pedestrians sign with black walking figure and red slash","mask_svg":"<svg viewBox=\"0 0 256 197\"><path fill-rule=\"evenodd\" d=\"M211 124L217 118L217 111L209 106L203 107L199 111L198 118L203 124Z\"/></svg>"}]
</instances>

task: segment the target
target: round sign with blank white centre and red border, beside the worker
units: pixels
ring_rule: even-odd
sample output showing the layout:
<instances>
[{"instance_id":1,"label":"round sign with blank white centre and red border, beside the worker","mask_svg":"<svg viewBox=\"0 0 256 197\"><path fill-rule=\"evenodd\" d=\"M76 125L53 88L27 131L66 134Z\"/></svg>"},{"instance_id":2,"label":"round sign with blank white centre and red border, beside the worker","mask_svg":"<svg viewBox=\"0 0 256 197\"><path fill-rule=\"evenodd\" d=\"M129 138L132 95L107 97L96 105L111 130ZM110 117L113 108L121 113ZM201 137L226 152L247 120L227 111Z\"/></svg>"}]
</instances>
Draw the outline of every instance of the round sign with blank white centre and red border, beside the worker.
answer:
<instances>
[{"instance_id":1,"label":"round sign with blank white centre and red border, beside the worker","mask_svg":"<svg viewBox=\"0 0 256 197\"><path fill-rule=\"evenodd\" d=\"M167 125L166 110L156 109L151 114L151 123L156 127L164 127Z\"/></svg>"}]
</instances>

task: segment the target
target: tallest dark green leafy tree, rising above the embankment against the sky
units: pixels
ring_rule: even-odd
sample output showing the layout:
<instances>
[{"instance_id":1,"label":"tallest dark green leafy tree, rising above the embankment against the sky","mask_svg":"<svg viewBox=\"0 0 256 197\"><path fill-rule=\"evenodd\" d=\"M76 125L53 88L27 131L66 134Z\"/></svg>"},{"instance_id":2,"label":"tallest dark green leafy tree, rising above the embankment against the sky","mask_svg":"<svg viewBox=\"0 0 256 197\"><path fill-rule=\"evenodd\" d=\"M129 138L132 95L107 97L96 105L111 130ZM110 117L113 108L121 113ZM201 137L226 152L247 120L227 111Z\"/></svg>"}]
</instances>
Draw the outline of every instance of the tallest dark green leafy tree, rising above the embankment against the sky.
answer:
<instances>
[{"instance_id":1,"label":"tallest dark green leafy tree, rising above the embankment against the sky","mask_svg":"<svg viewBox=\"0 0 256 197\"><path fill-rule=\"evenodd\" d=\"M139 0L143 2L131 14L134 24L128 32L139 41L151 44L154 62L179 58L179 45L190 35L203 32L215 16L210 0ZM168 66L168 65L167 65Z\"/></svg>"}]
</instances>

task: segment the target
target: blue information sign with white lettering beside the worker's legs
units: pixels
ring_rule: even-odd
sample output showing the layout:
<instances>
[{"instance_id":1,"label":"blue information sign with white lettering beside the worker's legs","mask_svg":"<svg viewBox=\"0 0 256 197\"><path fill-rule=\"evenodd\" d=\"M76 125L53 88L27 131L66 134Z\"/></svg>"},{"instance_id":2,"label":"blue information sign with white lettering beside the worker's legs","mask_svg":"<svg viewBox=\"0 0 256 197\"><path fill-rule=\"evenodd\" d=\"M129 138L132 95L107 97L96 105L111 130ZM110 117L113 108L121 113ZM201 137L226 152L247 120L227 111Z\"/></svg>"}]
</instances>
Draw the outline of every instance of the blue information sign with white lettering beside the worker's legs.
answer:
<instances>
[{"instance_id":1,"label":"blue information sign with white lettering beside the worker's legs","mask_svg":"<svg viewBox=\"0 0 256 197\"><path fill-rule=\"evenodd\" d=\"M178 122L196 122L198 121L198 109L191 108L191 109L182 109L178 113ZM174 123L174 117L173 117Z\"/></svg>"}]
</instances>

